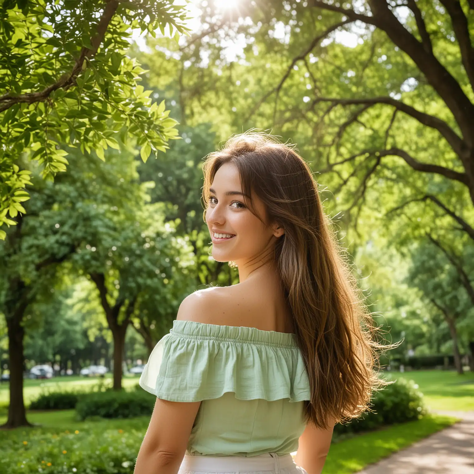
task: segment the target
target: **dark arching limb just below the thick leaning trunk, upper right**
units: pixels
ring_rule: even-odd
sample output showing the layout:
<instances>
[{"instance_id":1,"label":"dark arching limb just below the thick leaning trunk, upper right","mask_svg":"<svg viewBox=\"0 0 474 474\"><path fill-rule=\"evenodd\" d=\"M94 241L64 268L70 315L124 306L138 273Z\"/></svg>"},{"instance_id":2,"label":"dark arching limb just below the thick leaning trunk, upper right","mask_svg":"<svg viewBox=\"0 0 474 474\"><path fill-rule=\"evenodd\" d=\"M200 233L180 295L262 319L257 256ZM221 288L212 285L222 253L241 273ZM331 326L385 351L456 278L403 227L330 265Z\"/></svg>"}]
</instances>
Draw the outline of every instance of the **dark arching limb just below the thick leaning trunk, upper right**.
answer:
<instances>
[{"instance_id":1,"label":"dark arching limb just below the thick leaning trunk, upper right","mask_svg":"<svg viewBox=\"0 0 474 474\"><path fill-rule=\"evenodd\" d=\"M456 132L449 127L449 125L438 117L434 117L429 115L425 112L421 112L418 109L415 109L411 105L405 104L401 100L393 99L392 97L372 97L368 99L337 99L331 97L317 97L311 103L311 108L313 108L319 102L333 102L335 104L341 105L353 105L353 104L368 104L368 105L376 105L376 104L387 104L395 107L396 109L400 110L401 112L410 115L410 117L415 118L419 121L422 125L426 125L430 128L435 128L438 132L446 138L447 142L453 147L453 150L457 155L462 155L463 150L466 147L465 142L461 137L459 137Z\"/></svg>"}]
</instances>

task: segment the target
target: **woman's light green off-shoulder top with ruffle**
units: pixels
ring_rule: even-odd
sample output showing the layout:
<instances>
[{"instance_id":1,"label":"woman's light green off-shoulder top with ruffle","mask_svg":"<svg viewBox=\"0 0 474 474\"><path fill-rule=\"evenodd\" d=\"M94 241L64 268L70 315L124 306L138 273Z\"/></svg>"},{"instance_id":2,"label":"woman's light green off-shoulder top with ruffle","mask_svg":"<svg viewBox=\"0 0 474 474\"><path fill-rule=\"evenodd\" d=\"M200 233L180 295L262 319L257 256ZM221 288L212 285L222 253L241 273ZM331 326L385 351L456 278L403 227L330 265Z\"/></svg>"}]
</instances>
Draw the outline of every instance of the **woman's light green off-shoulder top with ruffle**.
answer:
<instances>
[{"instance_id":1,"label":"woman's light green off-shoulder top with ruffle","mask_svg":"<svg viewBox=\"0 0 474 474\"><path fill-rule=\"evenodd\" d=\"M283 455L298 449L310 385L294 334L174 320L139 384L164 400L202 401L188 455Z\"/></svg>"}]
</instances>

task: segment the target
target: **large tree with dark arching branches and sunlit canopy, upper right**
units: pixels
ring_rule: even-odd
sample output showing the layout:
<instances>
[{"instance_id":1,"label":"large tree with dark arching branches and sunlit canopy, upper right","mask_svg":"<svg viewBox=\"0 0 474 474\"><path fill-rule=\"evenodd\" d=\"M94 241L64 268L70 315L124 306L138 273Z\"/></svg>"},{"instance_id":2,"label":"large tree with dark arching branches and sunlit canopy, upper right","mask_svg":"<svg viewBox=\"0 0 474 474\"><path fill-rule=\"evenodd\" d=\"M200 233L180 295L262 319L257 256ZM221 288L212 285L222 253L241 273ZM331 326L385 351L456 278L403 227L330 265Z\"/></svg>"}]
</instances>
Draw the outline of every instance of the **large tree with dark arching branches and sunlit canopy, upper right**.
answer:
<instances>
[{"instance_id":1,"label":"large tree with dark arching branches and sunlit canopy, upper right","mask_svg":"<svg viewBox=\"0 0 474 474\"><path fill-rule=\"evenodd\" d=\"M474 66L467 68L473 56L463 27L473 13L457 5L244 1L226 13L201 6L201 31L180 46L150 40L159 49L150 56L158 72L172 55L166 70L179 78L190 125L212 117L218 139L259 127L296 141L339 195L347 223L357 228L366 208L381 217L390 210L373 205L369 190L396 191L392 207L423 200L474 236L472 203L459 209L474 189L466 73ZM153 70L150 77L167 82Z\"/></svg>"}]
</instances>

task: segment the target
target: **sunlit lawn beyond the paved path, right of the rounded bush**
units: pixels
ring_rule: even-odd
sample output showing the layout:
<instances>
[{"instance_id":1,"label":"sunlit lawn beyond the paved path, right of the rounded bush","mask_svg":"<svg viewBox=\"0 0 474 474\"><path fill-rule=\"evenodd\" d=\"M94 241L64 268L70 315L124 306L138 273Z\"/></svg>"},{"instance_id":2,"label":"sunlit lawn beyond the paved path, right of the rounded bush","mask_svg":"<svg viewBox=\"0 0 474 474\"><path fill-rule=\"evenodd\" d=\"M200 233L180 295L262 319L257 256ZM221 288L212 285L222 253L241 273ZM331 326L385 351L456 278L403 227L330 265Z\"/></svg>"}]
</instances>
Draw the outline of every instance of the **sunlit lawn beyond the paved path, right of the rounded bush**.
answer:
<instances>
[{"instance_id":1,"label":"sunlit lawn beyond the paved path, right of the rounded bush","mask_svg":"<svg viewBox=\"0 0 474 474\"><path fill-rule=\"evenodd\" d=\"M474 410L474 373L455 371L385 372L388 378L403 377L418 383L430 410Z\"/></svg>"}]
</instances>

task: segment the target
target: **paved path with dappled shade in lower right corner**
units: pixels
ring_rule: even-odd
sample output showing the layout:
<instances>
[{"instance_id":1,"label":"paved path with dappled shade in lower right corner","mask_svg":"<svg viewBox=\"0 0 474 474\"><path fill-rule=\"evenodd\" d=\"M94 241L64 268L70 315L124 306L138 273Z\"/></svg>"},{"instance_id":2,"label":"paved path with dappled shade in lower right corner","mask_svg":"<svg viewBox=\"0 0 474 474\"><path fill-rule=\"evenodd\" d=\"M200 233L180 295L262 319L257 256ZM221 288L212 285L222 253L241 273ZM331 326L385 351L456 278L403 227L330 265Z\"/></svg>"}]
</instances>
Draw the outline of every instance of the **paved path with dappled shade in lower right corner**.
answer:
<instances>
[{"instance_id":1,"label":"paved path with dappled shade in lower right corner","mask_svg":"<svg viewBox=\"0 0 474 474\"><path fill-rule=\"evenodd\" d=\"M474 474L474 411L437 411L462 421L359 474Z\"/></svg>"}]
</instances>

